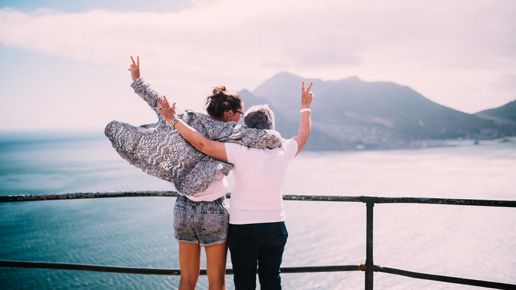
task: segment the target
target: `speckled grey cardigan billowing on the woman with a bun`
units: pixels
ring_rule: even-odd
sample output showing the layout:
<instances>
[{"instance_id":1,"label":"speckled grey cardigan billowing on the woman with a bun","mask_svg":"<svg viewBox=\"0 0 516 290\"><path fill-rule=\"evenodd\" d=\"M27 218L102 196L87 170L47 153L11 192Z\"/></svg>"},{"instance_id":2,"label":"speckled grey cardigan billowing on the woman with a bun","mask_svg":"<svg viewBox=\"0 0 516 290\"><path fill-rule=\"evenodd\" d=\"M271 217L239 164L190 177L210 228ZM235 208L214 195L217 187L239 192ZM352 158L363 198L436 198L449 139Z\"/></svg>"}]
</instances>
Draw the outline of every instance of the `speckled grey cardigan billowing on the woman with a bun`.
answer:
<instances>
[{"instance_id":1,"label":"speckled grey cardigan billowing on the woman with a bun","mask_svg":"<svg viewBox=\"0 0 516 290\"><path fill-rule=\"evenodd\" d=\"M158 121L139 127L118 121L107 124L104 133L122 158L150 175L173 182L176 190L188 196L205 190L219 170L228 175L232 164L197 151L155 111L161 95L143 78L135 80L131 87L149 104ZM276 148L283 141L276 131L221 122L192 110L180 112L178 117L211 140L254 148Z\"/></svg>"}]
</instances>

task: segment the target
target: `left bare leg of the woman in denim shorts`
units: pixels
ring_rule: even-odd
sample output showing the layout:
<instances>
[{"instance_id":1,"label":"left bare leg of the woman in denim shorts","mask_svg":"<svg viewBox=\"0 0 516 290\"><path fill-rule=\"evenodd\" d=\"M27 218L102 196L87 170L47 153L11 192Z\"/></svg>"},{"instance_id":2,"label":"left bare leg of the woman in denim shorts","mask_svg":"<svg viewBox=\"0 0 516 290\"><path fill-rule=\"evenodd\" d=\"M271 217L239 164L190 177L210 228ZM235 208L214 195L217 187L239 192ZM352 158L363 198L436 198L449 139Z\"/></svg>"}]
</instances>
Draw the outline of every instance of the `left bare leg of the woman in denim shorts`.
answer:
<instances>
[{"instance_id":1,"label":"left bare leg of the woman in denim shorts","mask_svg":"<svg viewBox=\"0 0 516 290\"><path fill-rule=\"evenodd\" d=\"M201 247L179 242L179 267L179 290L195 290L201 270Z\"/></svg>"}]
</instances>

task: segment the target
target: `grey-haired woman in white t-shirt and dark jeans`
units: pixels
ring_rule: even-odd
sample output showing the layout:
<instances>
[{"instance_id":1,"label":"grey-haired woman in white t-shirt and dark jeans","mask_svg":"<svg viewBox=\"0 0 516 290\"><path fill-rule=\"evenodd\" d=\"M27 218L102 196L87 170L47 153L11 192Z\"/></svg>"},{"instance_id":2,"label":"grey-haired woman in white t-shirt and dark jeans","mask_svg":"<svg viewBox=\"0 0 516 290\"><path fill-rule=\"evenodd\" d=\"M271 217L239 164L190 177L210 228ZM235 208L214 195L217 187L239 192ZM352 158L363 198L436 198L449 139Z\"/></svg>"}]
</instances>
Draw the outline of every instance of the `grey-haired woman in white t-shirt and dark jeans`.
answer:
<instances>
[{"instance_id":1,"label":"grey-haired woman in white t-shirt and dark jeans","mask_svg":"<svg viewBox=\"0 0 516 290\"><path fill-rule=\"evenodd\" d=\"M301 89L299 134L278 148L250 148L232 142L209 140L178 118L175 103L158 100L164 118L200 152L232 163L233 188L228 245L235 289L256 288L256 268L262 289L281 289L280 265L288 232L285 228L282 186L288 163L306 144L311 131L312 84ZM274 128L268 106L246 111L248 127Z\"/></svg>"}]
</instances>

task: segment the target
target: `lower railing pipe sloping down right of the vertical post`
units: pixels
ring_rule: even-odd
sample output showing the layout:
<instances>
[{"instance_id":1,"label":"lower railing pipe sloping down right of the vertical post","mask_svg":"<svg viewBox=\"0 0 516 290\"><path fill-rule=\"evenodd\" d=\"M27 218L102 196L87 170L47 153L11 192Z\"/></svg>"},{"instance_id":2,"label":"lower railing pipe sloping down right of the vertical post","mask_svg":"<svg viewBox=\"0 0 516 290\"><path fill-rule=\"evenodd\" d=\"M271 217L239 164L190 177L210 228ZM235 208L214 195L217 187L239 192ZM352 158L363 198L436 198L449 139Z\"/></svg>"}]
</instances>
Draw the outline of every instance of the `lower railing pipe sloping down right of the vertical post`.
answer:
<instances>
[{"instance_id":1,"label":"lower railing pipe sloping down right of the vertical post","mask_svg":"<svg viewBox=\"0 0 516 290\"><path fill-rule=\"evenodd\" d=\"M471 286L480 286L480 287L487 287L487 288L493 288L493 289L511 289L511 290L516 289L516 284L507 284L507 283L474 280L474 279L466 279L466 278L458 278L458 277L450 277L450 276L442 276L442 275L433 275L433 274L428 274L428 273L413 272L413 271L407 271L407 270L396 269L396 268L380 267L380 266L376 266L376 265L375 265L375 271L390 273L390 274L394 274L394 275L401 275L401 276L406 276L406 277L412 277L412 278L417 278L417 279L433 280L433 281L471 285Z\"/></svg>"}]
</instances>

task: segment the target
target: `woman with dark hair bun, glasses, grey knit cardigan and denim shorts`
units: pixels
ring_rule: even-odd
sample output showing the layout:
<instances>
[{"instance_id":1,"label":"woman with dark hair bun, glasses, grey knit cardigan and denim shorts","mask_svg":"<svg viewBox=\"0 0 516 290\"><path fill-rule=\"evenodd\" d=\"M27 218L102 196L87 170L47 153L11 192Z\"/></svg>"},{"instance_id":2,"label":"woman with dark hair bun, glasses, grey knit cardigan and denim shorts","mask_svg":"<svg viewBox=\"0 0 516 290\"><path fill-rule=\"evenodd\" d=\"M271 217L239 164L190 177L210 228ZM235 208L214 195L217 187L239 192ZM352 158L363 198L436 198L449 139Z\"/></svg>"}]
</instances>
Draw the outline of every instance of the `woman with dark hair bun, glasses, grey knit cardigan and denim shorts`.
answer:
<instances>
[{"instance_id":1,"label":"woman with dark hair bun, glasses, grey knit cardigan and denim shorts","mask_svg":"<svg viewBox=\"0 0 516 290\"><path fill-rule=\"evenodd\" d=\"M171 182L178 191L173 224L174 237L179 241L179 289L195 289L201 248L206 252L209 289L225 289L229 222L229 204L225 198L228 182L225 175L233 165L197 151L156 112L156 108L159 108L157 102L163 96L140 78L139 57L137 62L132 56L131 60L131 86L154 110L158 122L136 127L112 121L106 126L105 135L122 158L148 174ZM254 148L281 146L282 138L276 131L236 125L244 115L243 110L240 95L221 86L206 98L209 116L185 110L178 114L178 119L196 128L208 139L231 141Z\"/></svg>"}]
</instances>

